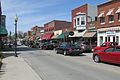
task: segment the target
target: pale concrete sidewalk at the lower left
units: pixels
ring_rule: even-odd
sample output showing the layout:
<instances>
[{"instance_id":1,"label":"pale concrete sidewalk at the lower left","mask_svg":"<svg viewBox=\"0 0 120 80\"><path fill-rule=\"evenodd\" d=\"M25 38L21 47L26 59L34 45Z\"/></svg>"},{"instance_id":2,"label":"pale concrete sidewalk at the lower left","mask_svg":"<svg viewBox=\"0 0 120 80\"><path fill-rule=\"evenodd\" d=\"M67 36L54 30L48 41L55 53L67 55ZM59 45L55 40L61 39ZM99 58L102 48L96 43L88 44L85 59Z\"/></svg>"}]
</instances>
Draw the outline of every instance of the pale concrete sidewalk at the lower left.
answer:
<instances>
[{"instance_id":1,"label":"pale concrete sidewalk at the lower left","mask_svg":"<svg viewBox=\"0 0 120 80\"><path fill-rule=\"evenodd\" d=\"M42 80L20 56L6 57L2 62L5 72L0 80Z\"/></svg>"}]
</instances>

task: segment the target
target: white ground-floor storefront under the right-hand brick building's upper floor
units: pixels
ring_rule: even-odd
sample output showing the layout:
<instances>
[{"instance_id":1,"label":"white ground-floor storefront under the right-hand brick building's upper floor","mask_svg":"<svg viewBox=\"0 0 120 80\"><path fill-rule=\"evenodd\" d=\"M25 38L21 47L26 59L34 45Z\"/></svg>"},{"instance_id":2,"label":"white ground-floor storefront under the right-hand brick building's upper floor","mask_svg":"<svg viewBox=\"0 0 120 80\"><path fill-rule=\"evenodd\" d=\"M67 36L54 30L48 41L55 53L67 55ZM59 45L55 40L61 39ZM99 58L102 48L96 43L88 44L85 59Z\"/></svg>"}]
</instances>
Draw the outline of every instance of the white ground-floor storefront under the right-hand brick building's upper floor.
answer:
<instances>
[{"instance_id":1,"label":"white ground-floor storefront under the right-hand brick building's upper floor","mask_svg":"<svg viewBox=\"0 0 120 80\"><path fill-rule=\"evenodd\" d=\"M117 42L120 45L120 26L97 30L97 45L104 42Z\"/></svg>"}]
</instances>

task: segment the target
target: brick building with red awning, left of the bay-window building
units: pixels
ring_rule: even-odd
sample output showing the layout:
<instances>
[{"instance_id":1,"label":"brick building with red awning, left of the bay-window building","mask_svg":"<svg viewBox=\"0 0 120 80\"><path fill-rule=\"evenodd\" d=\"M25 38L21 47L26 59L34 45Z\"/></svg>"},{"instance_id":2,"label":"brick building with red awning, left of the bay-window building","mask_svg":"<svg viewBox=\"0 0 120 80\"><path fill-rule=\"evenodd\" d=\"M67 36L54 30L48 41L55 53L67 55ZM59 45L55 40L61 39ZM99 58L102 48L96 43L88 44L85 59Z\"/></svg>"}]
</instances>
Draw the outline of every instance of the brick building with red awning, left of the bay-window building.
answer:
<instances>
[{"instance_id":1,"label":"brick building with red awning, left of the bay-window building","mask_svg":"<svg viewBox=\"0 0 120 80\"><path fill-rule=\"evenodd\" d=\"M65 31L72 31L72 23L67 21L61 20L53 20L44 24L44 31L45 34L41 37L42 39L55 39L60 34L64 33Z\"/></svg>"}]
</instances>

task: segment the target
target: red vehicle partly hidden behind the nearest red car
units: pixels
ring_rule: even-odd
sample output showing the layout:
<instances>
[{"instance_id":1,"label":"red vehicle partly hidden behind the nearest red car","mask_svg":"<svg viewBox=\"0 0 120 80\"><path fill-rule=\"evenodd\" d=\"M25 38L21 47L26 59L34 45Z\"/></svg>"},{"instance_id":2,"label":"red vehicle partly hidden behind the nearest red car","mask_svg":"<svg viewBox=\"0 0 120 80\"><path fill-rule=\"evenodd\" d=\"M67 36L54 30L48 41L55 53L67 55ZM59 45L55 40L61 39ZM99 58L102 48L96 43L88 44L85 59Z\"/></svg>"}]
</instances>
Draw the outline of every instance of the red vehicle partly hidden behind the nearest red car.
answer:
<instances>
[{"instance_id":1,"label":"red vehicle partly hidden behind the nearest red car","mask_svg":"<svg viewBox=\"0 0 120 80\"><path fill-rule=\"evenodd\" d=\"M116 43L116 42L104 42L102 45L96 46L96 47L93 49L93 52L100 51L100 50L104 50L104 49L106 49L106 48L114 47L114 46L117 46L117 45L118 45L118 43Z\"/></svg>"}]
</instances>

